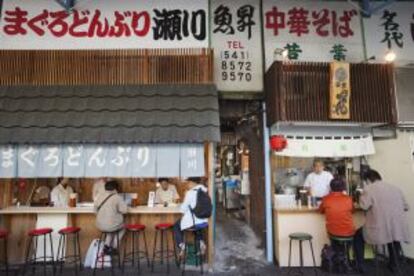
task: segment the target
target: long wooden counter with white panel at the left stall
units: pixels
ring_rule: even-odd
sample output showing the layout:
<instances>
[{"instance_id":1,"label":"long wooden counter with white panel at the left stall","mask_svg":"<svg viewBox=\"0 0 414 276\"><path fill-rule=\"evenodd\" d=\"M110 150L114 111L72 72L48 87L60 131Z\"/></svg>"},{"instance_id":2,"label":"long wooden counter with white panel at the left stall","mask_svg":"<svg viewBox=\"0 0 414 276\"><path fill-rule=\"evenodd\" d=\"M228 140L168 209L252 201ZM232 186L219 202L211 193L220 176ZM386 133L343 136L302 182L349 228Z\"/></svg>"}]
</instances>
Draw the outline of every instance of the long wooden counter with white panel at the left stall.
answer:
<instances>
[{"instance_id":1,"label":"long wooden counter with white panel at the left stall","mask_svg":"<svg viewBox=\"0 0 414 276\"><path fill-rule=\"evenodd\" d=\"M54 252L57 252L58 230L67 226L80 227L82 257L85 256L93 239L99 238L100 234L95 227L96 214L92 206L76 208L7 207L0 210L0 216L2 217L2 227L8 229L10 233L8 242L10 263L22 263L24 261L28 242L27 233L34 228L50 227L54 229L52 239ZM175 223L179 218L181 218L180 205L170 207L139 206L128 209L125 223L140 223L146 226L148 250L152 252L155 225L158 223ZM172 237L170 243L172 246ZM72 242L68 241L68 254L72 252L71 246ZM47 248L49 250L49 247Z\"/></svg>"}]
</instances>

